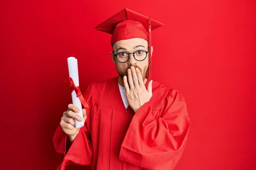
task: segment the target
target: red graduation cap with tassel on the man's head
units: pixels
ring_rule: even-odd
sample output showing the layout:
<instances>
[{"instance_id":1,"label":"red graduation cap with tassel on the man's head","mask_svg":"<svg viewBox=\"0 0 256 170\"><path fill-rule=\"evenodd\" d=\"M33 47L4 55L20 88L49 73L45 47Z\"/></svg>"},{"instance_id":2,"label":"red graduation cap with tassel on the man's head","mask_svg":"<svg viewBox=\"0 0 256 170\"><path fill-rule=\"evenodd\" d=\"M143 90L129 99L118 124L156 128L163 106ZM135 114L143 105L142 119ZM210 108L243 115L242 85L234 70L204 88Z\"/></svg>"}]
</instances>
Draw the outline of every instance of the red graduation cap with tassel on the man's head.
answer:
<instances>
[{"instance_id":1,"label":"red graduation cap with tassel on the man's head","mask_svg":"<svg viewBox=\"0 0 256 170\"><path fill-rule=\"evenodd\" d=\"M95 27L111 36L111 45L119 40L142 38L148 41L148 79L151 79L151 31L164 26L162 23L142 14L124 8Z\"/></svg>"}]
</instances>

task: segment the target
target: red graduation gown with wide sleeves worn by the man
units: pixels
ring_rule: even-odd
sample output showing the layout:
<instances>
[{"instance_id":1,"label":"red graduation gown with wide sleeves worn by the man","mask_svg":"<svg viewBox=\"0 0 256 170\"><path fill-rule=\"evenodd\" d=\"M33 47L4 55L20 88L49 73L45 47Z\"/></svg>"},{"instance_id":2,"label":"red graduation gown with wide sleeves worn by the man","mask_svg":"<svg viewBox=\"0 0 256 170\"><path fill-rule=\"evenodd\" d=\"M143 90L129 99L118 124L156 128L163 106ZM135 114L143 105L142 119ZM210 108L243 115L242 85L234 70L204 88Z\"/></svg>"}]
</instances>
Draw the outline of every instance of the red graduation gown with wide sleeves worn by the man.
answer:
<instances>
[{"instance_id":1,"label":"red graduation gown with wide sleeves worn by the man","mask_svg":"<svg viewBox=\"0 0 256 170\"><path fill-rule=\"evenodd\" d=\"M73 144L67 147L60 126L53 137L55 150L64 154L61 170L68 164L87 165L84 170L172 170L189 132L186 102L158 82L152 93L134 114L130 106L125 109L118 77L89 85L83 96L90 108Z\"/></svg>"}]
</instances>

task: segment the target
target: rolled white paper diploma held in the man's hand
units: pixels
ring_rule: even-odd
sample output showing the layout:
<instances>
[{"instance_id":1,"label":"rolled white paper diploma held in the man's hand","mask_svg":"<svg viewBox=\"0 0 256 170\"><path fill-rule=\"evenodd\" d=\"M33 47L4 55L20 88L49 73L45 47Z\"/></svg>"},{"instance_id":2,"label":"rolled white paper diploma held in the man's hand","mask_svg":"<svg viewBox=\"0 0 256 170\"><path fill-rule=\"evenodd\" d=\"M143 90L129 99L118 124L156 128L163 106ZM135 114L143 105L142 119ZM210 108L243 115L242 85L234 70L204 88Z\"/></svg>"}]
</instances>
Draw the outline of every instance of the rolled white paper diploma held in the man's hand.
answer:
<instances>
[{"instance_id":1,"label":"rolled white paper diploma held in the man's hand","mask_svg":"<svg viewBox=\"0 0 256 170\"><path fill-rule=\"evenodd\" d=\"M77 59L75 57L68 57L67 65L68 65L69 76L73 79L76 87L79 86ZM80 101L79 97L76 97L76 91L72 91L71 96L72 96L73 105L75 105L77 108L79 108L79 113L77 113L77 114L79 116L81 116L81 118L83 119L82 122L79 122L78 120L75 119L75 125L76 125L76 127L83 127L84 126L84 117L83 117L81 101Z\"/></svg>"}]
</instances>

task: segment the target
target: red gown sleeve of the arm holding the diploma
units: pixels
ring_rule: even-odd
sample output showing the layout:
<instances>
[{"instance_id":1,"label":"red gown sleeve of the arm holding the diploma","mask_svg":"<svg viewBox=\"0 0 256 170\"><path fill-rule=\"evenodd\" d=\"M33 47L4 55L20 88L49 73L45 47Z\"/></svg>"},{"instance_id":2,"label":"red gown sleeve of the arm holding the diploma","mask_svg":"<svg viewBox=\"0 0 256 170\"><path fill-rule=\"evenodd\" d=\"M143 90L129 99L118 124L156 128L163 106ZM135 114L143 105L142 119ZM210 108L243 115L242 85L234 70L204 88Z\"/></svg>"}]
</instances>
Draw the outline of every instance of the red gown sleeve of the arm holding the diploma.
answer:
<instances>
[{"instance_id":1,"label":"red gown sleeve of the arm holding the diploma","mask_svg":"<svg viewBox=\"0 0 256 170\"><path fill-rule=\"evenodd\" d=\"M80 128L73 143L69 143L68 136L61 129L60 125L55 130L53 145L56 152L64 154L64 159L58 170L64 170L69 164L91 164L93 152L92 144L90 142L90 122L93 107L93 88L94 84L88 85L83 93L83 97L90 108L85 108L87 119L85 120L84 126Z\"/></svg>"}]
</instances>

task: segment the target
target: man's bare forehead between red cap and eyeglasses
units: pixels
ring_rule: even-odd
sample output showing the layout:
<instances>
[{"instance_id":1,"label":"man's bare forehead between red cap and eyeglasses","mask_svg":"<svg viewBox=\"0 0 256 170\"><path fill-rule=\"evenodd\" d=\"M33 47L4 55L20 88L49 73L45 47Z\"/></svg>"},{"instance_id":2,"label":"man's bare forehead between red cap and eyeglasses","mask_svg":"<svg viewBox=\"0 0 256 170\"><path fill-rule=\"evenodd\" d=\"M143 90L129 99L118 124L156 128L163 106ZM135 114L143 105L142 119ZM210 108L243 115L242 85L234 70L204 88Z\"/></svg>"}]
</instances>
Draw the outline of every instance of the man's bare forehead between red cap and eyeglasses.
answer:
<instances>
[{"instance_id":1,"label":"man's bare forehead between red cap and eyeglasses","mask_svg":"<svg viewBox=\"0 0 256 170\"><path fill-rule=\"evenodd\" d=\"M128 40L120 40L113 44L113 49L117 48L126 48L126 49L133 49L137 45L143 45L146 48L148 47L148 41L142 38L132 38Z\"/></svg>"}]
</instances>

